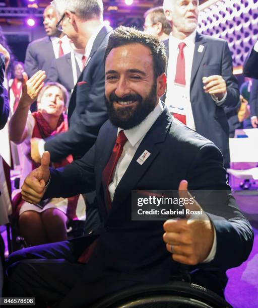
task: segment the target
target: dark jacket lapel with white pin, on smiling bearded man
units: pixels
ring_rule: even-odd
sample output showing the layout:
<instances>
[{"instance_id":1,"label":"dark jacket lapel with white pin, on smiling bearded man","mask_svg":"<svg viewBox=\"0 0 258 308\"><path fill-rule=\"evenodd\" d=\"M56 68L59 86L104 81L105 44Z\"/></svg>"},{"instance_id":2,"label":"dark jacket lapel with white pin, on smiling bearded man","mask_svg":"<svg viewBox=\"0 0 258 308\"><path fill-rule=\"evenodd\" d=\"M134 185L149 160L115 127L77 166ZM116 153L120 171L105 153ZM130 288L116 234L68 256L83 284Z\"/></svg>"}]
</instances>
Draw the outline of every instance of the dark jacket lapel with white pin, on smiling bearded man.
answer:
<instances>
[{"instance_id":1,"label":"dark jacket lapel with white pin, on smiling bearded man","mask_svg":"<svg viewBox=\"0 0 258 308\"><path fill-rule=\"evenodd\" d=\"M126 198L128 198L128 195L131 194L132 190L137 188L137 183L157 158L159 153L159 147L157 144L165 141L171 121L171 116L165 108L151 129L145 135L130 165L116 187L111 212L116 210L116 208L119 207ZM145 150L150 152L151 155L142 165L140 165L137 160Z\"/></svg>"}]
</instances>

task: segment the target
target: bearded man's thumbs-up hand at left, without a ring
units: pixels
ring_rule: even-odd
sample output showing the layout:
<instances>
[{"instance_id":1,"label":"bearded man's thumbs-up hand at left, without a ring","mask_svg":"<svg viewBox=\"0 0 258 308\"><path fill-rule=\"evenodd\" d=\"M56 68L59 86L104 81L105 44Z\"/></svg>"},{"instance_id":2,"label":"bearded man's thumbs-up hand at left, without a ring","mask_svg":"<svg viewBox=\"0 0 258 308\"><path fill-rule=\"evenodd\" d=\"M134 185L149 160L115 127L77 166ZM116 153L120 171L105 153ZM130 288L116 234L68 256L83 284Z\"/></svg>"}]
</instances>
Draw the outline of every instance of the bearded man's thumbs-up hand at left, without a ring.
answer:
<instances>
[{"instance_id":1,"label":"bearded man's thumbs-up hand at left, without a ring","mask_svg":"<svg viewBox=\"0 0 258 308\"><path fill-rule=\"evenodd\" d=\"M32 204L40 202L46 190L46 183L50 177L49 164L50 154L46 151L43 153L40 167L34 169L23 183L21 192L23 200Z\"/></svg>"}]
</instances>

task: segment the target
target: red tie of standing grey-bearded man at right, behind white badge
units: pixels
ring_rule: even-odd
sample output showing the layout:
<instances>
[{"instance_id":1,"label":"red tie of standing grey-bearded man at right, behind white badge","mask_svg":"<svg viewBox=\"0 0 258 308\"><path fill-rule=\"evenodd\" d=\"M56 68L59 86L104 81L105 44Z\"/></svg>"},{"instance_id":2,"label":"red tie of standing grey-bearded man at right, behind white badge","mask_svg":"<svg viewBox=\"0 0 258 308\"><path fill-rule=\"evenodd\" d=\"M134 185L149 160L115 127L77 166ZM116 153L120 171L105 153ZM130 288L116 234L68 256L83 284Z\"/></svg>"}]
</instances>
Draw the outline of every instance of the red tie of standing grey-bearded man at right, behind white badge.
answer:
<instances>
[{"instance_id":1,"label":"red tie of standing grey-bearded man at right, behind white badge","mask_svg":"<svg viewBox=\"0 0 258 308\"><path fill-rule=\"evenodd\" d=\"M183 49L185 46L186 44L184 42L178 44L179 53L176 62L175 85L181 87L185 87L185 60L183 54ZM185 115L173 112L173 116L183 124L186 124Z\"/></svg>"}]
</instances>

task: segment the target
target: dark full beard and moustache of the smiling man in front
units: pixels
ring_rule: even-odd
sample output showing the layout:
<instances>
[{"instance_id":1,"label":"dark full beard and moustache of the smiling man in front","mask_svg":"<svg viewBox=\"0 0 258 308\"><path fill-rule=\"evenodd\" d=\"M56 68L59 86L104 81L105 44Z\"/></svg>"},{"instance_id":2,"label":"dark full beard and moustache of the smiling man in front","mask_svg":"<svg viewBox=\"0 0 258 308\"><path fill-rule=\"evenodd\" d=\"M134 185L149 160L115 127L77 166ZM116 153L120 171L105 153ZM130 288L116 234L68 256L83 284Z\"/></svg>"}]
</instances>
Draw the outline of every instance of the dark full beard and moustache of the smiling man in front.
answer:
<instances>
[{"instance_id":1,"label":"dark full beard and moustache of the smiling man in front","mask_svg":"<svg viewBox=\"0 0 258 308\"><path fill-rule=\"evenodd\" d=\"M136 106L115 109L113 104L114 101L138 101L138 103ZM139 94L127 95L120 98L112 92L108 99L105 96L105 103L109 120L114 126L122 129L130 129L138 126L143 120L145 120L149 113L153 111L157 104L156 82L153 83L150 93L145 99L143 99Z\"/></svg>"}]
</instances>

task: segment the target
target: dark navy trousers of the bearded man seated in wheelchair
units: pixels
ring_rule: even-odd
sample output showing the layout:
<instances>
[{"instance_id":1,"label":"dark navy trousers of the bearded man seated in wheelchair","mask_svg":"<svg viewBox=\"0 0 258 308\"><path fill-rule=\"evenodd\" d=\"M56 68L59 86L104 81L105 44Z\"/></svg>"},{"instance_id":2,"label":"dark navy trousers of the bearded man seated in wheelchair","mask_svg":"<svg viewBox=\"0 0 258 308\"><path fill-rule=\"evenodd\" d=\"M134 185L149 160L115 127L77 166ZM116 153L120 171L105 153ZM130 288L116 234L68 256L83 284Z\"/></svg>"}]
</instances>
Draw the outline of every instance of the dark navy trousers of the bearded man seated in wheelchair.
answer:
<instances>
[{"instance_id":1,"label":"dark navy trousers of the bearded man seated in wheelchair","mask_svg":"<svg viewBox=\"0 0 258 308\"><path fill-rule=\"evenodd\" d=\"M139 284L101 272L94 275L95 280L88 279L93 273L90 265L77 262L84 248L78 241L65 241L14 252L7 260L7 292L3 296L35 297L36 307L90 307L102 297ZM211 276L198 271L192 278L193 283L223 295L216 273Z\"/></svg>"}]
</instances>

